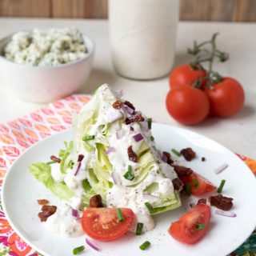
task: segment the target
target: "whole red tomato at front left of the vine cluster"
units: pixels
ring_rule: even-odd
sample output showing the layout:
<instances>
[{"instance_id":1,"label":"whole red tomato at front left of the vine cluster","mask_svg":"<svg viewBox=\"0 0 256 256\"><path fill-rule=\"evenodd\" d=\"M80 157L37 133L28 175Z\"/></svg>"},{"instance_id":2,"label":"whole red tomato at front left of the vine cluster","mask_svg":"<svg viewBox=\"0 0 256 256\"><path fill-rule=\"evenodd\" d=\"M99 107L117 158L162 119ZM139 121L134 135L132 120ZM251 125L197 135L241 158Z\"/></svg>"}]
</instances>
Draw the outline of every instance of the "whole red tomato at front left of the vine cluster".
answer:
<instances>
[{"instance_id":1,"label":"whole red tomato at front left of the vine cluster","mask_svg":"<svg viewBox=\"0 0 256 256\"><path fill-rule=\"evenodd\" d=\"M166 97L169 114L185 125L202 122L209 112L209 101L202 90L190 86L170 90Z\"/></svg>"}]
</instances>

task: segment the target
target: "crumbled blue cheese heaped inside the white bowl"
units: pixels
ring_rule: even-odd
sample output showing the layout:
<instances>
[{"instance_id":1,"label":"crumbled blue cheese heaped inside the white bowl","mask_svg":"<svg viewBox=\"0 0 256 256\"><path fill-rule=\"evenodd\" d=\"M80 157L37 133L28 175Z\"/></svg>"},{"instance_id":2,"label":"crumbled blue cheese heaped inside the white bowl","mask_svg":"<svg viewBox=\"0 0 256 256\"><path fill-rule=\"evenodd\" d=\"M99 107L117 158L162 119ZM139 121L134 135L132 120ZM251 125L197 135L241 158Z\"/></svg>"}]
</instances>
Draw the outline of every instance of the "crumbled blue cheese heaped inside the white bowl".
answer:
<instances>
[{"instance_id":1,"label":"crumbled blue cheese heaped inside the white bowl","mask_svg":"<svg viewBox=\"0 0 256 256\"><path fill-rule=\"evenodd\" d=\"M59 66L86 56L87 48L76 28L21 31L4 49L11 62L30 66Z\"/></svg>"}]
</instances>

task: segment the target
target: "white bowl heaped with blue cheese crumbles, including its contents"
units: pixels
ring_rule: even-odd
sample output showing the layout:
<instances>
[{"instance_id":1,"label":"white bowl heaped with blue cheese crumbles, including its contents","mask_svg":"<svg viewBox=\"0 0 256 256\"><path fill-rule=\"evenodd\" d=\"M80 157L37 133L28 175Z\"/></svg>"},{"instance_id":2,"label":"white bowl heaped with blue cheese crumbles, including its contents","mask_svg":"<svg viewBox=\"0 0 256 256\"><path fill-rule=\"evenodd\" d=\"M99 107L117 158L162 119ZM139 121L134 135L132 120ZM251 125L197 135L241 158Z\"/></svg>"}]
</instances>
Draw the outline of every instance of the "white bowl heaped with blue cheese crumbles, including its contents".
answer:
<instances>
[{"instance_id":1,"label":"white bowl heaped with blue cheese crumbles, including its contents","mask_svg":"<svg viewBox=\"0 0 256 256\"><path fill-rule=\"evenodd\" d=\"M74 27L20 31L0 40L0 76L19 98L51 102L86 86L93 55Z\"/></svg>"}]
</instances>

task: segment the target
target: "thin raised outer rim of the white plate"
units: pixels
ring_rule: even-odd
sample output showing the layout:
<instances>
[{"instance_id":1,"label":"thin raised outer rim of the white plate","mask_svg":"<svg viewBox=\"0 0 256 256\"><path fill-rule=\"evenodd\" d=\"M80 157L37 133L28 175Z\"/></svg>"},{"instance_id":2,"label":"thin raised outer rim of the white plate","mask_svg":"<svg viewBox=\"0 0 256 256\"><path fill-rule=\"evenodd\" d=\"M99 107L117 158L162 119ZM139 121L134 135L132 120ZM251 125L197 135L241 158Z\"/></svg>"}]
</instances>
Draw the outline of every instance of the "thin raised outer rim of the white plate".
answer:
<instances>
[{"instance_id":1,"label":"thin raised outer rim of the white plate","mask_svg":"<svg viewBox=\"0 0 256 256\"><path fill-rule=\"evenodd\" d=\"M227 148L226 146L223 146L221 143L216 142L216 141L214 141L213 139L206 137L205 135L199 134L199 133L195 132L194 130L189 130L189 129L186 129L186 128L183 128L183 127L171 126L171 125L168 125L168 124L166 124L166 123L161 123L161 122L153 122L153 126L154 126L154 125L157 125L157 126L165 126L166 128L171 128L171 129L177 130L177 131L178 131L178 130L182 130L183 132L188 132L188 133L190 133L190 134L197 135L197 136L199 136L199 137L201 137L201 138L203 138L203 139L207 139L207 140L210 141L210 142L214 142L214 143L217 144L218 146L222 147L222 149L228 151L230 154L234 154L234 156L235 156L236 158L238 158L238 159L241 161L242 165L245 167L245 169L246 169L246 171L248 172L248 174L251 175L251 178L254 178L254 179L255 179L254 174L253 174L252 171L250 170L249 166L247 166L246 163L245 163L244 161L242 161L242 159L239 158L232 150L230 150L230 149ZM40 141L34 143L32 146L30 146L29 148L27 148L26 150L24 150L24 151L22 152L22 154L19 155L18 158L15 159L15 161L13 162L13 164L10 166L10 169L6 171L5 177L4 177L3 182L2 182L2 190L1 190L2 210L3 210L4 214L5 214L5 217L6 217L7 221L10 223L10 226L11 226L11 228L14 230L14 232L15 232L16 234L18 234L18 236L19 236L20 238L22 238L22 240L23 240L24 242L26 242L32 249L37 250L40 254L43 254L44 256L51 256L51 255L48 254L48 253L46 253L46 252L44 252L44 251L42 251L41 248L38 248L38 246L35 245L33 242L30 242L29 239L26 239L25 237L23 237L22 232L20 232L20 231L18 230L18 228L16 228L16 226L14 225L14 222L13 222L12 219L10 218L10 215L8 214L8 211L7 211L7 209L6 209L6 202L5 202L6 181L8 182L8 177L10 176L10 172L11 172L12 170L15 170L15 166L17 165L17 162L20 161L20 158L24 158L24 157L26 156L26 154L28 154L28 152L29 152L30 150L33 150L34 147L37 147L37 146L38 146L39 144L41 144L42 142L45 142L45 141L47 141L47 140L50 140L50 139L52 139L52 138L55 137L55 136L61 136L62 134L68 134L68 133L72 132L72 130L73 130L73 129L72 129L72 127L71 127L71 128L69 128L69 129L62 130L61 132L57 132L57 133L51 134L49 137L43 138L42 140L40 140ZM256 179L255 179L255 185L256 185ZM256 205L255 205L255 206L256 206ZM256 209L256 207L255 207L255 209ZM250 225L251 225L251 224L250 224ZM252 234L253 231L254 231L255 228L256 228L256 218L255 218L255 220L254 220L254 225L251 225L251 226L252 226L252 228L250 229L250 234ZM249 233L249 232L248 232L248 233ZM246 239L250 237L250 234L246 235L246 238L243 240L243 242L245 242ZM231 251L228 251L227 254L232 253L232 252L233 252L234 250L236 250L239 246L241 246L243 242L238 242L238 243L237 243L238 246L235 246L235 247L236 247L235 249L233 249L233 250L231 250Z\"/></svg>"}]
</instances>

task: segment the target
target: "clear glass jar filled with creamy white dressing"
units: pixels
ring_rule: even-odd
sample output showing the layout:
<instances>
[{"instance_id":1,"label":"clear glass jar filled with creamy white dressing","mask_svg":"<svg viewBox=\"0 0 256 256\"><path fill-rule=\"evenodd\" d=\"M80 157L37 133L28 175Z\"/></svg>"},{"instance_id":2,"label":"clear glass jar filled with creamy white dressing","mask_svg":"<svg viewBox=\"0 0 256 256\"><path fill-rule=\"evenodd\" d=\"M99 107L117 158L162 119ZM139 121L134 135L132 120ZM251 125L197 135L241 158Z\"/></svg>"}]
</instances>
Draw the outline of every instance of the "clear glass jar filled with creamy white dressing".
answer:
<instances>
[{"instance_id":1,"label":"clear glass jar filled with creamy white dressing","mask_svg":"<svg viewBox=\"0 0 256 256\"><path fill-rule=\"evenodd\" d=\"M174 63L179 0L109 0L114 69L132 79L161 78Z\"/></svg>"}]
</instances>

